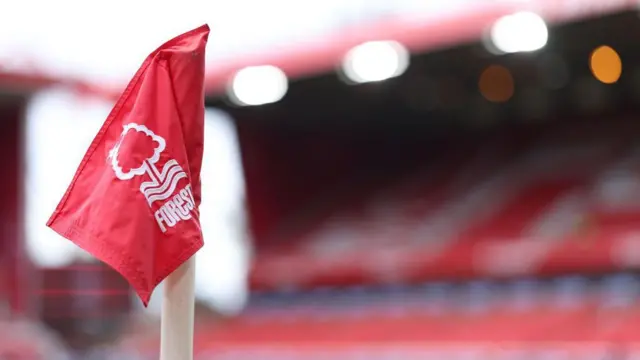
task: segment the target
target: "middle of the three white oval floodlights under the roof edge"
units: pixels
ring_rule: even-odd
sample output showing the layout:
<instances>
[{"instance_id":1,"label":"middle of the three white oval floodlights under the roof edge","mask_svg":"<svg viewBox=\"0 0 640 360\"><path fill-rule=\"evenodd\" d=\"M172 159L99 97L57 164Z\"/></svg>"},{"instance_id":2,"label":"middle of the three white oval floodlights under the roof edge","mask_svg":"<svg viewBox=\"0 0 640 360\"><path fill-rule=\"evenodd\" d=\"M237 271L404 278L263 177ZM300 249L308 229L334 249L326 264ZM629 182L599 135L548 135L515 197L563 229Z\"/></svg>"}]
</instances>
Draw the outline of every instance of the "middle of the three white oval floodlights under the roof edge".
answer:
<instances>
[{"instance_id":1,"label":"middle of the three white oval floodlights under the roof edge","mask_svg":"<svg viewBox=\"0 0 640 360\"><path fill-rule=\"evenodd\" d=\"M351 49L342 64L344 74L356 83L382 81L402 75L409 52L395 41L371 41Z\"/></svg>"}]
</instances>

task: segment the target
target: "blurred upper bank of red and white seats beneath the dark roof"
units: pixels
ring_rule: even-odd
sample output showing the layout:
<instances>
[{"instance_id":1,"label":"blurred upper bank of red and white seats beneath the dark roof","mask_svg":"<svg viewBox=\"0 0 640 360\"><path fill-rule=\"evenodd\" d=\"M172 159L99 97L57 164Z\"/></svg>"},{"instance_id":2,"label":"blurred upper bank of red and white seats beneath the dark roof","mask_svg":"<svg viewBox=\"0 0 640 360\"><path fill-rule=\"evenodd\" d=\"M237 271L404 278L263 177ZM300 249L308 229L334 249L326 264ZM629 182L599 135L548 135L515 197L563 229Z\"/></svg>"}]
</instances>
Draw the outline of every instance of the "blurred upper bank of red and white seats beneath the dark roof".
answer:
<instances>
[{"instance_id":1,"label":"blurred upper bank of red and white seats beneath the dark roof","mask_svg":"<svg viewBox=\"0 0 640 360\"><path fill-rule=\"evenodd\" d=\"M440 151L446 156L403 177L322 195L318 201L340 200L304 230L258 249L253 279L335 285L382 281L378 275L417 281L634 268L624 248L635 244L640 216L637 131L625 119L556 125L526 140L506 134L508 145L480 141L466 156L450 140Z\"/></svg>"}]
</instances>

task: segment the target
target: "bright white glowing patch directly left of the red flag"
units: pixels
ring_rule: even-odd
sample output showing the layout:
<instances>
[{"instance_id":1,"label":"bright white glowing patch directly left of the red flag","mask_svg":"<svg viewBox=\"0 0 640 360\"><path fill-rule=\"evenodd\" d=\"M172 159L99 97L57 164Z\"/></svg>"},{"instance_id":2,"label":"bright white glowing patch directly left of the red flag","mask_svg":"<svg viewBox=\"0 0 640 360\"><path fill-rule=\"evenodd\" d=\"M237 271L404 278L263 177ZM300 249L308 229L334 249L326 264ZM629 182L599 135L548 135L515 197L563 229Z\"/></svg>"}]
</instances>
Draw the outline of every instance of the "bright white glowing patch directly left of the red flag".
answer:
<instances>
[{"instance_id":1,"label":"bright white glowing patch directly left of the red flag","mask_svg":"<svg viewBox=\"0 0 640 360\"><path fill-rule=\"evenodd\" d=\"M102 100L82 103L59 89L37 94L27 106L26 249L39 267L62 267L91 258L45 224L110 108L111 104Z\"/></svg>"}]
</instances>

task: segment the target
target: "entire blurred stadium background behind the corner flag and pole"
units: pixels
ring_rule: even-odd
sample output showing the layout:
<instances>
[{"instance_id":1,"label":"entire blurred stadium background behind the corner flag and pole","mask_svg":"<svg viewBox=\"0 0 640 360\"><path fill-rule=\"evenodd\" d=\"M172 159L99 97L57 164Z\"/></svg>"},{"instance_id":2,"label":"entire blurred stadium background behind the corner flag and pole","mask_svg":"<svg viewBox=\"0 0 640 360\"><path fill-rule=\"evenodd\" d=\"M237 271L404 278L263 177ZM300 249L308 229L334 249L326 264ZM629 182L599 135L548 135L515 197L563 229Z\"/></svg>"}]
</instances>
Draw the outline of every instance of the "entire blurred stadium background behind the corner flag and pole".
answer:
<instances>
[{"instance_id":1,"label":"entire blurred stadium background behind the corner flag and pole","mask_svg":"<svg viewBox=\"0 0 640 360\"><path fill-rule=\"evenodd\" d=\"M157 359L160 296L45 222L145 56L204 22L196 359L640 359L639 11L3 4L0 359Z\"/></svg>"}]
</instances>

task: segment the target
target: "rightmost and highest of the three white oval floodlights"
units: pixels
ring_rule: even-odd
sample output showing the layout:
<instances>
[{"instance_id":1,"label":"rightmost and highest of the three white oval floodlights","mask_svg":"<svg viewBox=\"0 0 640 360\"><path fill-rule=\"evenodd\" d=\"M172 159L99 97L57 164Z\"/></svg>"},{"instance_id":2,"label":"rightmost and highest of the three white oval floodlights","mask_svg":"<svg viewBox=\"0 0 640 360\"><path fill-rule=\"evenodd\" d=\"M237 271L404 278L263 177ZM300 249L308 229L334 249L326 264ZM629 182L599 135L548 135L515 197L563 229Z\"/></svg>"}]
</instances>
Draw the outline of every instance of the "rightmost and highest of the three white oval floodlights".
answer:
<instances>
[{"instance_id":1,"label":"rightmost and highest of the three white oval floodlights","mask_svg":"<svg viewBox=\"0 0 640 360\"><path fill-rule=\"evenodd\" d=\"M491 42L502 53L542 49L549 38L544 20L532 12L518 12L498 19L491 28Z\"/></svg>"}]
</instances>

